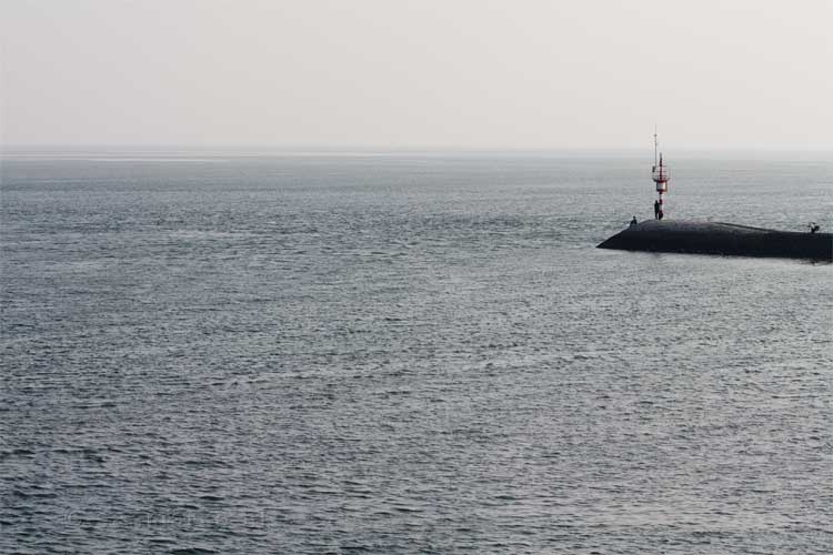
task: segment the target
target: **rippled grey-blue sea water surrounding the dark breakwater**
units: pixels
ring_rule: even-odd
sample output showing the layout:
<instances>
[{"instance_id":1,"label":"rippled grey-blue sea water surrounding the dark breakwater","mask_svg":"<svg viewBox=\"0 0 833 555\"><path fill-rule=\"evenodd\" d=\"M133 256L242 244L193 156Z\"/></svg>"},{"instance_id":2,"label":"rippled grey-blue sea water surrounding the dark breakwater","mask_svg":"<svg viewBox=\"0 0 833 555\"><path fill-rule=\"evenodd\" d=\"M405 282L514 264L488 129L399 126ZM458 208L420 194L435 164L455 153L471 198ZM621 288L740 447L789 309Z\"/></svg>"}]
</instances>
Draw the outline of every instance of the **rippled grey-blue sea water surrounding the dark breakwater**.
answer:
<instances>
[{"instance_id":1,"label":"rippled grey-blue sea water surrounding the dark breakwater","mask_svg":"<svg viewBox=\"0 0 833 555\"><path fill-rule=\"evenodd\" d=\"M669 218L833 229L833 160ZM830 553L833 269L594 245L651 160L2 161L0 552Z\"/></svg>"}]
</instances>

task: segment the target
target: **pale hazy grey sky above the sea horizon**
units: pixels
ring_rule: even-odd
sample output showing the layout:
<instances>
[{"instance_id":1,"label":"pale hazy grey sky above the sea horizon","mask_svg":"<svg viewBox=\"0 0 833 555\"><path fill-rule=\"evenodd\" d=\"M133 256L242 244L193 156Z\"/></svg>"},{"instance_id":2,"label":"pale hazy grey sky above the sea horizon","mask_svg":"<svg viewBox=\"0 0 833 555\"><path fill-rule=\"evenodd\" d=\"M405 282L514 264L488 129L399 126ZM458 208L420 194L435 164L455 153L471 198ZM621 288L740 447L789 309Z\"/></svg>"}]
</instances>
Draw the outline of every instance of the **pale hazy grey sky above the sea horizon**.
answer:
<instances>
[{"instance_id":1,"label":"pale hazy grey sky above the sea horizon","mask_svg":"<svg viewBox=\"0 0 833 555\"><path fill-rule=\"evenodd\" d=\"M3 144L833 148L833 0L0 0Z\"/></svg>"}]
</instances>

